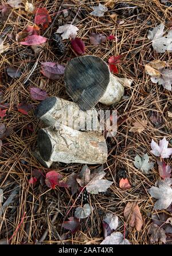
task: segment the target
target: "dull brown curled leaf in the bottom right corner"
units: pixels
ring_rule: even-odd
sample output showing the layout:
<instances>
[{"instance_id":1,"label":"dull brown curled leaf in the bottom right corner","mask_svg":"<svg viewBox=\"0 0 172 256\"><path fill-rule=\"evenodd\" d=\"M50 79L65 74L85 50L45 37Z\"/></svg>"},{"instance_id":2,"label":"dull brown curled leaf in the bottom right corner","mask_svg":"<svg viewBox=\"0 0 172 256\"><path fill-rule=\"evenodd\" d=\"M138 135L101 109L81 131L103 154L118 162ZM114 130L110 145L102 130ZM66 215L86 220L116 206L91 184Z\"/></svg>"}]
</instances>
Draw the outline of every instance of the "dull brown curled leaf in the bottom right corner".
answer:
<instances>
[{"instance_id":1,"label":"dull brown curled leaf in the bottom right corner","mask_svg":"<svg viewBox=\"0 0 172 256\"><path fill-rule=\"evenodd\" d=\"M158 227L158 225L151 224L148 234L151 234L151 236L150 236L151 243L156 243L156 242L158 242L158 240L161 240L163 243L166 243L165 231L163 228Z\"/></svg>"}]
</instances>

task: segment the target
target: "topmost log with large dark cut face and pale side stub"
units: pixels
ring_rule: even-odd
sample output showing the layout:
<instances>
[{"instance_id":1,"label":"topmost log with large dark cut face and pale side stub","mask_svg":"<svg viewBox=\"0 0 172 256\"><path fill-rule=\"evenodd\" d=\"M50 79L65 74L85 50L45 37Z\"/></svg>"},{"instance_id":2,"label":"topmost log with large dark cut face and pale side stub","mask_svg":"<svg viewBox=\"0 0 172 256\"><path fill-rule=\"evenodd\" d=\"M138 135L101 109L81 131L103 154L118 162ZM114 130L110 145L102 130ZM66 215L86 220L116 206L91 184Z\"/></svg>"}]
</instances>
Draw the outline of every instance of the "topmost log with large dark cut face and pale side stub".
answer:
<instances>
[{"instance_id":1,"label":"topmost log with large dark cut face and pale side stub","mask_svg":"<svg viewBox=\"0 0 172 256\"><path fill-rule=\"evenodd\" d=\"M83 111L98 101L106 105L118 103L124 84L131 83L127 78L112 75L107 63L91 55L72 59L65 68L64 80L68 95Z\"/></svg>"}]
</instances>

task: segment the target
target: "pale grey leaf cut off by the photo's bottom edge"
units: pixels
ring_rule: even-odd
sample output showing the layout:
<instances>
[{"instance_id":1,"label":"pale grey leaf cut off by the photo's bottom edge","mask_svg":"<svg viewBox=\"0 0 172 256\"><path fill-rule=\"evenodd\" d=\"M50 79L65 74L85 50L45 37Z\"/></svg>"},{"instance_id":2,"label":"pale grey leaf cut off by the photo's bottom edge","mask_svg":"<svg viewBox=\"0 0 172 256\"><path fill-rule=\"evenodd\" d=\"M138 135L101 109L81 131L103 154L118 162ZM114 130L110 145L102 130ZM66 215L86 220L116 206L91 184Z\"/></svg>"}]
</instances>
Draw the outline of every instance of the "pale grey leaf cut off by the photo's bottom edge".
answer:
<instances>
[{"instance_id":1,"label":"pale grey leaf cut off by the photo's bottom edge","mask_svg":"<svg viewBox=\"0 0 172 256\"><path fill-rule=\"evenodd\" d=\"M107 236L100 244L130 244L130 242L124 239L124 235L121 232L114 232Z\"/></svg>"}]
</instances>

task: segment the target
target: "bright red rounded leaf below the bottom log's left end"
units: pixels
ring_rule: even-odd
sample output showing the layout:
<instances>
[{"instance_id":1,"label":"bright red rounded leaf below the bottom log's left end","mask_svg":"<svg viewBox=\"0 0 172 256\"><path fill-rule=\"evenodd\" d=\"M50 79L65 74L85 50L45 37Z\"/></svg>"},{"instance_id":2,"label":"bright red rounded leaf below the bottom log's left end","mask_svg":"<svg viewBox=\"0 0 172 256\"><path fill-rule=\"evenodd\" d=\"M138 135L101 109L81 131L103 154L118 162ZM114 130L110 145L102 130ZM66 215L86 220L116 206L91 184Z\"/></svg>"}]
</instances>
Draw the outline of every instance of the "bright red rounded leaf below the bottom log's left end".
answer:
<instances>
[{"instance_id":1,"label":"bright red rounded leaf below the bottom log's left end","mask_svg":"<svg viewBox=\"0 0 172 256\"><path fill-rule=\"evenodd\" d=\"M58 172L56 171L47 172L45 184L51 189L55 189L56 186L68 187L67 183L60 181L61 178L62 178L62 175L58 174Z\"/></svg>"}]
</instances>

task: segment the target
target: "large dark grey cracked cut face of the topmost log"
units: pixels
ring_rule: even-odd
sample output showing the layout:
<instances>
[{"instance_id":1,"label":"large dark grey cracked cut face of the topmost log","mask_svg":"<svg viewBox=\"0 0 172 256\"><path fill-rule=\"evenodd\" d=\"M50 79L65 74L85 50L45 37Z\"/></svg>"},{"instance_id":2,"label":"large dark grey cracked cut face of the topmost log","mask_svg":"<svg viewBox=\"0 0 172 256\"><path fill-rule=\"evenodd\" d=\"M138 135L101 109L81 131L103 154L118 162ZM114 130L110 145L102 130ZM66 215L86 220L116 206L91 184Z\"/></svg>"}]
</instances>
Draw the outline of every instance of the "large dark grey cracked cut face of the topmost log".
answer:
<instances>
[{"instance_id":1,"label":"large dark grey cracked cut face of the topmost log","mask_svg":"<svg viewBox=\"0 0 172 256\"><path fill-rule=\"evenodd\" d=\"M86 111L104 95L110 71L102 59L88 55L72 59L65 69L64 79L68 95Z\"/></svg>"}]
</instances>

